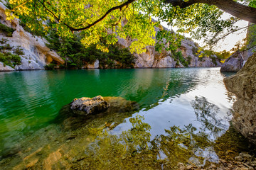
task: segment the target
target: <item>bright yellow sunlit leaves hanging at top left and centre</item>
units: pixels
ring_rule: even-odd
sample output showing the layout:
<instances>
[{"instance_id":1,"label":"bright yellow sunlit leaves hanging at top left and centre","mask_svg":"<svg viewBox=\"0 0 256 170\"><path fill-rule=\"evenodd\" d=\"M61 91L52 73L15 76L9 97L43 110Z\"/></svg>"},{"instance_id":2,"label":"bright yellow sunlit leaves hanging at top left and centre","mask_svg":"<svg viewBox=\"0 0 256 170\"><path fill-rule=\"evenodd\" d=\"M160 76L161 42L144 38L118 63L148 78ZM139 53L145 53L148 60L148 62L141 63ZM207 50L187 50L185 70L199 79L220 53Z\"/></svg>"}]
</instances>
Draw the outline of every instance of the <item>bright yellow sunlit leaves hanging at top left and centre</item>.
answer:
<instances>
[{"instance_id":1,"label":"bright yellow sunlit leaves hanging at top left and centre","mask_svg":"<svg viewBox=\"0 0 256 170\"><path fill-rule=\"evenodd\" d=\"M110 8L118 6L126 1L103 1L103 0L37 0L21 1L11 0L14 5L13 12L21 16L26 16L27 25L33 29L38 27L46 28L47 33L50 28L57 30L58 35L63 37L73 37L70 28L83 28L97 21ZM142 1L141 1L142 2ZM153 9L154 1L144 1ZM97 44L97 48L107 52L107 47L102 43L111 45L120 38L131 38L131 52L144 52L146 45L154 45L155 35L154 23L148 14L139 14L142 9L138 3L124 6L122 9L112 11L102 21L87 30L82 30L82 43L85 47ZM154 10L152 10L154 11ZM9 16L11 14L9 12ZM39 19L38 19L39 18ZM35 19L40 22L33 22ZM124 24L125 22L125 24ZM50 23L50 27L45 23ZM111 30L111 31L110 31Z\"/></svg>"}]
</instances>

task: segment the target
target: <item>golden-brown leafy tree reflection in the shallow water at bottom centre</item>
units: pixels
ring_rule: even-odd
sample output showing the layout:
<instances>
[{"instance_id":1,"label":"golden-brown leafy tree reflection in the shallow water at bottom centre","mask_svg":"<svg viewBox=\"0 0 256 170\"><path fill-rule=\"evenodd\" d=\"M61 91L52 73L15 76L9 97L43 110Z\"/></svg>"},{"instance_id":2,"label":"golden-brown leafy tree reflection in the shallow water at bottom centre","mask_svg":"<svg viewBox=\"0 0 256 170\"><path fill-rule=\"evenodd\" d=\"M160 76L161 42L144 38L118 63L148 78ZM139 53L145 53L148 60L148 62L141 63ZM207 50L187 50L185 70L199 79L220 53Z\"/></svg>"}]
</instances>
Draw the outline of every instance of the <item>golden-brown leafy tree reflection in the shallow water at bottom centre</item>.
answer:
<instances>
[{"instance_id":1,"label":"golden-brown leafy tree reflection in the shallow water at bottom centre","mask_svg":"<svg viewBox=\"0 0 256 170\"><path fill-rule=\"evenodd\" d=\"M173 126L166 130L168 135L150 140L150 125L143 119L139 115L130 118L132 128L121 135L99 132L97 140L85 149L83 159L73 164L73 168L176 169L178 162L190 162L192 157L202 164L203 158L195 152L211 145L206 134L196 134L192 125L184 129Z\"/></svg>"}]
</instances>

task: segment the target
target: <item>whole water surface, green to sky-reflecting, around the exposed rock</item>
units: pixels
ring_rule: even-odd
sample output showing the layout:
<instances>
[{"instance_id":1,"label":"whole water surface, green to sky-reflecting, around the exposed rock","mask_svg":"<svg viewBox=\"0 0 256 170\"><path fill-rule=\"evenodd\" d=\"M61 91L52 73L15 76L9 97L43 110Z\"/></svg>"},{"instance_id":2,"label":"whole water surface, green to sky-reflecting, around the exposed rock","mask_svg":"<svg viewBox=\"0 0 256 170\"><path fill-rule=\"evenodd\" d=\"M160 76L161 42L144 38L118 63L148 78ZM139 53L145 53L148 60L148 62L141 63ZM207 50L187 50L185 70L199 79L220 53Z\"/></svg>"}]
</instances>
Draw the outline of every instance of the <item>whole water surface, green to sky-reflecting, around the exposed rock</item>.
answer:
<instances>
[{"instance_id":1,"label":"whole water surface, green to sky-reflecting, around the exposed rock","mask_svg":"<svg viewBox=\"0 0 256 170\"><path fill-rule=\"evenodd\" d=\"M219 68L0 72L0 169L177 169L246 151ZM112 110L75 115L74 98Z\"/></svg>"}]
</instances>

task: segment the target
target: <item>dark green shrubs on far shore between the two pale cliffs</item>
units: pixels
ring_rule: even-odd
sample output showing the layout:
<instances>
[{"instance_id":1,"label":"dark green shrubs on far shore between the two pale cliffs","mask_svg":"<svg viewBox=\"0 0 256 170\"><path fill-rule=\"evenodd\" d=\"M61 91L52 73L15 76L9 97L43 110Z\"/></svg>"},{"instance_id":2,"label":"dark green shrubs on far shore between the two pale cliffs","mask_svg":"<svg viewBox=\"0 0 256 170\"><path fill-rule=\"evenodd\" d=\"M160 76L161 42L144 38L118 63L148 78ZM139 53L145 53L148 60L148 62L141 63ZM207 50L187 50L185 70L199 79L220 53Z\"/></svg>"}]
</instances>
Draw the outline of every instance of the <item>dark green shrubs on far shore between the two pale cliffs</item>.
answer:
<instances>
[{"instance_id":1,"label":"dark green shrubs on far shore between the two pale cliffs","mask_svg":"<svg viewBox=\"0 0 256 170\"><path fill-rule=\"evenodd\" d=\"M133 67L134 57L127 49L120 49L116 45L109 45L109 52L98 50L96 45L85 48L81 43L81 36L74 38L61 38L55 30L51 30L46 38L48 47L63 57L65 64L61 68L82 68L86 64L93 64L99 60L101 68L127 68ZM102 40L104 43L105 40Z\"/></svg>"}]
</instances>

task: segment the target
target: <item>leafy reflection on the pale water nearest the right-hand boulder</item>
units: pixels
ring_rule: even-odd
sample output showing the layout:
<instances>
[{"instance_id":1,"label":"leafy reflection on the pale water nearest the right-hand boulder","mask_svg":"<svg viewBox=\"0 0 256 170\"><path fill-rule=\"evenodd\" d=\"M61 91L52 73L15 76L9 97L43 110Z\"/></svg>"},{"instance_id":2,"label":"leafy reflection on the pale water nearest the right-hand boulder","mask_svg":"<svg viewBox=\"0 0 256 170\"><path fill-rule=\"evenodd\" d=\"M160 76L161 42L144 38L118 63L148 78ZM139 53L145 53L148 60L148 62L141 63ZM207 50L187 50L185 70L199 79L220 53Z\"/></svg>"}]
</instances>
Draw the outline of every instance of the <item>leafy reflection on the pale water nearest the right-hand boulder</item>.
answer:
<instances>
[{"instance_id":1,"label":"leafy reflection on the pale water nearest the right-hand boulder","mask_svg":"<svg viewBox=\"0 0 256 170\"><path fill-rule=\"evenodd\" d=\"M194 108L198 122L202 124L200 128L202 132L210 132L214 137L218 137L221 132L225 132L228 129L228 125L218 117L220 108L208 102L205 97L198 98L196 96L191 105Z\"/></svg>"}]
</instances>

